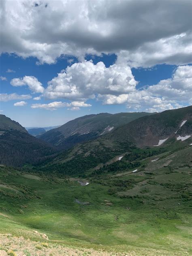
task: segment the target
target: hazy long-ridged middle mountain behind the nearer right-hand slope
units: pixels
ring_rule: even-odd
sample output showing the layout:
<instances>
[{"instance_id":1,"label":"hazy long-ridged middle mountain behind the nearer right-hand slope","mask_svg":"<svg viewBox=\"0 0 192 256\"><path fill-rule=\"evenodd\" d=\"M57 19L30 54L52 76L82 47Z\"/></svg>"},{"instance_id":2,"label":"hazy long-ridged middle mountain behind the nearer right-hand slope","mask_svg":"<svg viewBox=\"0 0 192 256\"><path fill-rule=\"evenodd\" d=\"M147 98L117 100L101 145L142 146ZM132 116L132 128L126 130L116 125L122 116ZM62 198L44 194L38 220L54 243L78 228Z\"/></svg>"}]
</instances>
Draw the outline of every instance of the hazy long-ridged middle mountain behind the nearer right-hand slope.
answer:
<instances>
[{"instance_id":1,"label":"hazy long-ridged middle mountain behind the nearer right-hand slope","mask_svg":"<svg viewBox=\"0 0 192 256\"><path fill-rule=\"evenodd\" d=\"M85 115L69 121L56 129L49 130L38 136L38 138L60 146L63 149L68 149L77 143L95 139L134 119L151 114L153 113L100 113L97 115Z\"/></svg>"}]
</instances>

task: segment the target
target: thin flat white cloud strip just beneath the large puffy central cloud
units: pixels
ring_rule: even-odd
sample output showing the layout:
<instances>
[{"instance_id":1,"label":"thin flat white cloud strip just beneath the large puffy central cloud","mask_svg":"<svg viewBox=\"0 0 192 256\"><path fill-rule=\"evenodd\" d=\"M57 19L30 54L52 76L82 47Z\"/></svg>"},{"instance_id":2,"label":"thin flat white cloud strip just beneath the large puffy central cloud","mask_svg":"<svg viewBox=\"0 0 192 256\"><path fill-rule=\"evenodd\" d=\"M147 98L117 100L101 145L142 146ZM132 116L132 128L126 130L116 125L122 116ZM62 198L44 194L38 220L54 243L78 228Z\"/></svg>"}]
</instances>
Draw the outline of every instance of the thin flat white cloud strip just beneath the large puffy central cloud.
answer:
<instances>
[{"instance_id":1,"label":"thin flat white cloud strip just beneath the large puffy central cloud","mask_svg":"<svg viewBox=\"0 0 192 256\"><path fill-rule=\"evenodd\" d=\"M56 110L62 107L71 107L70 110L79 110L79 107L90 107L90 104L86 104L85 102L73 101L71 103L54 101L48 104L32 104L32 109L47 109L47 110Z\"/></svg>"}]
</instances>

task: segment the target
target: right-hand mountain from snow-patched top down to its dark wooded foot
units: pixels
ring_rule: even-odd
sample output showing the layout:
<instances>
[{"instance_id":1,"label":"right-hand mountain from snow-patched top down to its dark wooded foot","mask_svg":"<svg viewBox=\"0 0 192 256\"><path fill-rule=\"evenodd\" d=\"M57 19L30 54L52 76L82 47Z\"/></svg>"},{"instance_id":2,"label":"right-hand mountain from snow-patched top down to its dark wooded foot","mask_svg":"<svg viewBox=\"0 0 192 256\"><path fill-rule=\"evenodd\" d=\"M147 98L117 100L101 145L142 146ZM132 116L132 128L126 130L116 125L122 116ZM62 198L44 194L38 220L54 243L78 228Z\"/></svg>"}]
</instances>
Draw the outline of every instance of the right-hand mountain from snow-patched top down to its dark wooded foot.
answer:
<instances>
[{"instance_id":1,"label":"right-hand mountain from snow-patched top down to its dark wooded foot","mask_svg":"<svg viewBox=\"0 0 192 256\"><path fill-rule=\"evenodd\" d=\"M117 171L118 160L122 159L127 161L121 167L122 170L137 169L140 166L137 159L190 147L190 144L192 106L135 119L106 135L79 143L72 149L62 152L56 158L39 166L39 170L88 175L109 164L113 164L111 168ZM130 160L136 162L132 164Z\"/></svg>"}]
</instances>

